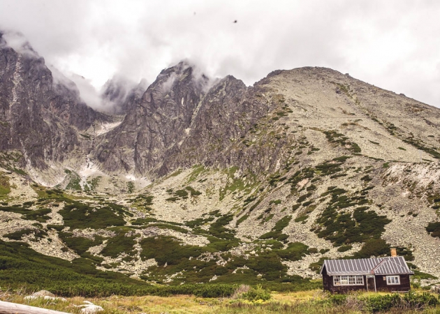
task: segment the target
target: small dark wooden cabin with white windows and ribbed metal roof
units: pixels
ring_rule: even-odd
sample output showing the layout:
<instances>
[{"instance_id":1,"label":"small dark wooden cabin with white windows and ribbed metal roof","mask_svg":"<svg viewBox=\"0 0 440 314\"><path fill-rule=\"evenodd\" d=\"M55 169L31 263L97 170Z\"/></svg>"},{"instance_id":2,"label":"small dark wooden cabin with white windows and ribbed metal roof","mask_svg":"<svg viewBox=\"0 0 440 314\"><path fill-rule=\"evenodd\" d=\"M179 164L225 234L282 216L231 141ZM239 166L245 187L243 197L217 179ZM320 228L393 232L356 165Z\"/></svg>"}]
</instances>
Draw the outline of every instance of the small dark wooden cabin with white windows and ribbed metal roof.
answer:
<instances>
[{"instance_id":1,"label":"small dark wooden cabin with white windows and ribbed metal roof","mask_svg":"<svg viewBox=\"0 0 440 314\"><path fill-rule=\"evenodd\" d=\"M353 290L408 292L408 268L402 256L325 260L321 267L324 290L332 293Z\"/></svg>"}]
</instances>

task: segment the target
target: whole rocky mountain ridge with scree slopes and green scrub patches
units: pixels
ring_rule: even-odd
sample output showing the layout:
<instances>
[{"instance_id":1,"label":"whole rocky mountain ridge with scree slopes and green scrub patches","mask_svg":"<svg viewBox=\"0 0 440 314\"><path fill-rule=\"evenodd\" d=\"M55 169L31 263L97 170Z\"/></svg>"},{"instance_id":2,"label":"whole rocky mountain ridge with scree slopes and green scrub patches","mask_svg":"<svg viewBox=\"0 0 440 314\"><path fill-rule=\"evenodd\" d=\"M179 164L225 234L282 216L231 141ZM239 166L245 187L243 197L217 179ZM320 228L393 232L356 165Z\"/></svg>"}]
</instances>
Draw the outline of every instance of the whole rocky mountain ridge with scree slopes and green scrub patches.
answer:
<instances>
[{"instance_id":1,"label":"whole rocky mountain ridge with scree slopes and green scrub patches","mask_svg":"<svg viewBox=\"0 0 440 314\"><path fill-rule=\"evenodd\" d=\"M438 108L328 68L246 87L182 61L111 116L0 47L2 241L156 283L293 282L390 246L440 276Z\"/></svg>"}]
</instances>

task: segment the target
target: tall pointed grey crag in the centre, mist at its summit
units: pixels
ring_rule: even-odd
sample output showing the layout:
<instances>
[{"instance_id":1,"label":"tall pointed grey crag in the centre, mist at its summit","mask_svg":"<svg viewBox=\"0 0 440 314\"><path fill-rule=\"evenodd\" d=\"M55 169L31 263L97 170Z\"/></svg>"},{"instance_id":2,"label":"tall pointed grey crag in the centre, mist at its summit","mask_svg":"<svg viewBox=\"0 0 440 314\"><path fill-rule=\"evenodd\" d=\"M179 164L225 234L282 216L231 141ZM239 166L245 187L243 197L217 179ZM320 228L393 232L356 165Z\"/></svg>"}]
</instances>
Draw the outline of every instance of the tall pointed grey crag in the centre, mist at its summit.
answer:
<instances>
[{"instance_id":1,"label":"tall pointed grey crag in the centre, mist at its summit","mask_svg":"<svg viewBox=\"0 0 440 314\"><path fill-rule=\"evenodd\" d=\"M154 173L184 137L206 84L206 77L196 79L183 62L163 70L122 124L103 136L94 153L103 167Z\"/></svg>"}]
</instances>

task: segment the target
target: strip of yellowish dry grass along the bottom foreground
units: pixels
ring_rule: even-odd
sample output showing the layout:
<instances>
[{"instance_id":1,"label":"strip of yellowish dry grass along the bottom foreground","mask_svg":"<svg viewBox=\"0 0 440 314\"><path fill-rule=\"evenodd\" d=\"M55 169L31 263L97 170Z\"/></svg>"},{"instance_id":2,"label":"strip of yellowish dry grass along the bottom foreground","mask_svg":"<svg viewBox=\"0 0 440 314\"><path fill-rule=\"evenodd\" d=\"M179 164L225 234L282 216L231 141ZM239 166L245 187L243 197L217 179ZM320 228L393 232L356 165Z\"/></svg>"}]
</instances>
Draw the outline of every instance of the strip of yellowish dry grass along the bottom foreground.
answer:
<instances>
[{"instance_id":1,"label":"strip of yellowish dry grass along the bottom foreground","mask_svg":"<svg viewBox=\"0 0 440 314\"><path fill-rule=\"evenodd\" d=\"M243 292L247 287L242 287ZM56 311L68 313L80 313L83 301L91 301L96 305L102 306L105 311L102 314L113 313L216 313L216 314L239 314L239 313L301 313L301 314L358 314L360 304L353 295L349 297L346 306L331 306L322 301L325 293L320 290L303 292L272 293L272 300L267 302L251 303L249 301L238 301L237 299L203 299L188 295L175 297L118 297L112 296L101 299L85 299L82 297L68 298L67 301L47 301L36 299L32 301L24 300L29 293L0 291L0 300L18 304L27 304L41 308L49 308ZM370 293L371 294L371 293ZM391 314L407 313L415 314L420 311L390 311ZM440 309L428 309L423 313L440 314Z\"/></svg>"}]
</instances>

